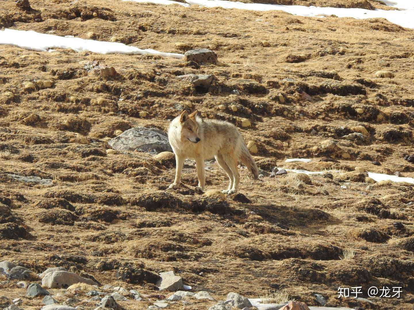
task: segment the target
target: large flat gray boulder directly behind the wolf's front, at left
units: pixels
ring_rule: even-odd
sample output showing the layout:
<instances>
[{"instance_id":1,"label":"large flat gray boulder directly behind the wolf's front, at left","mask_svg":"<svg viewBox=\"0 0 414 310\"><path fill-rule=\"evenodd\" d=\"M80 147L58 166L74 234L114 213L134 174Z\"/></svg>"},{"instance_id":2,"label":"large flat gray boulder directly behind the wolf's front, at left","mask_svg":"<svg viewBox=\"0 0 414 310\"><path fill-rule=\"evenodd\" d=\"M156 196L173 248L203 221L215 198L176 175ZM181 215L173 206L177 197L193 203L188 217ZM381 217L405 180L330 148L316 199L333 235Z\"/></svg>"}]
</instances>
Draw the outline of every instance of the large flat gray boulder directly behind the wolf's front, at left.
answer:
<instances>
[{"instance_id":1,"label":"large flat gray boulder directly behind the wolf's front, at left","mask_svg":"<svg viewBox=\"0 0 414 310\"><path fill-rule=\"evenodd\" d=\"M119 136L108 141L114 150L140 152L172 152L168 136L164 131L156 128L134 127L124 131Z\"/></svg>"}]
</instances>

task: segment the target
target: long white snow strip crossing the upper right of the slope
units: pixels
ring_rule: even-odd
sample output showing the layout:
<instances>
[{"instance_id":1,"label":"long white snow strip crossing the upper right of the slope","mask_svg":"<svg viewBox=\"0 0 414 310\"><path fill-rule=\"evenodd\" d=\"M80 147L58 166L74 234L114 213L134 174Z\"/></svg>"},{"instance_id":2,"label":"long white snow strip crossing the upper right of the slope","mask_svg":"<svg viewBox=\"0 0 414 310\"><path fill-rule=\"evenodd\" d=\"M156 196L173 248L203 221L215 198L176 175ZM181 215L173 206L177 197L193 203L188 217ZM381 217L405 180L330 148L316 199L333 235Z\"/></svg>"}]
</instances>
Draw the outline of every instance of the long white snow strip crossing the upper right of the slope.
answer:
<instances>
[{"instance_id":1,"label":"long white snow strip crossing the upper right of the slope","mask_svg":"<svg viewBox=\"0 0 414 310\"><path fill-rule=\"evenodd\" d=\"M414 29L414 10L365 10L357 8L338 8L338 7L305 7L302 5L272 5L260 3L243 3L224 0L185 0L185 2L201 5L202 7L223 7L225 9L242 9L254 11L281 10L287 13L320 17L336 15L337 17L353 17L356 19L380 18L383 17L388 21L402 27Z\"/></svg>"}]
</instances>

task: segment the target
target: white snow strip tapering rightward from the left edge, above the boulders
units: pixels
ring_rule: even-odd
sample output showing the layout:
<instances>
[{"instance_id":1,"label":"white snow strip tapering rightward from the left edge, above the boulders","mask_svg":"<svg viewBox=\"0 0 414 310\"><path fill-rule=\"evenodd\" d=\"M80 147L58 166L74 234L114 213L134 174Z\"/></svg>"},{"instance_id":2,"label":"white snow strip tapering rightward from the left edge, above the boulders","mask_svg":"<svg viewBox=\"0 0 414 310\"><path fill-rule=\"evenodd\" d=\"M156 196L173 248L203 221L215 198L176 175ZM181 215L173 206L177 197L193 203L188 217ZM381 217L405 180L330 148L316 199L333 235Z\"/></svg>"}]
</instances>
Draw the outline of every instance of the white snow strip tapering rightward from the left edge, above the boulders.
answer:
<instances>
[{"instance_id":1,"label":"white snow strip tapering rightward from the left edge, above the boulders","mask_svg":"<svg viewBox=\"0 0 414 310\"><path fill-rule=\"evenodd\" d=\"M26 50L46 52L49 48L65 48L82 52L87 50L99 54L128 54L128 55L159 55L181 59L182 54L164 53L157 50L141 50L135 46L118 42L105 42L85 40L81 38L66 38L52 34L38 33L36 31L24 31L5 29L0 31L0 45L13 45Z\"/></svg>"}]
</instances>

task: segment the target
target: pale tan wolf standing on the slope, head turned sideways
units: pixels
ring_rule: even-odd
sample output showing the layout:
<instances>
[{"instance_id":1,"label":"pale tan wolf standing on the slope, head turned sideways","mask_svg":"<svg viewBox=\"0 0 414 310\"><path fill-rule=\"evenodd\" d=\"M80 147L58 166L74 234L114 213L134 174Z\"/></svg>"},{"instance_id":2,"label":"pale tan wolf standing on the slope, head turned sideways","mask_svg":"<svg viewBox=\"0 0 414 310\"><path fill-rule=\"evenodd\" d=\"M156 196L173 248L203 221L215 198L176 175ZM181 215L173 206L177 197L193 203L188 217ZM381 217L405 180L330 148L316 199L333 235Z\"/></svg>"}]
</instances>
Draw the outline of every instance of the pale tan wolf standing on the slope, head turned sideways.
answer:
<instances>
[{"instance_id":1,"label":"pale tan wolf standing on the slope, head turned sideways","mask_svg":"<svg viewBox=\"0 0 414 310\"><path fill-rule=\"evenodd\" d=\"M195 160L198 176L195 191L199 193L205 189L204 161L213 157L229 176L229 187L222 191L224 194L237 192L240 182L239 160L249 168L253 179L258 179L258 167L243 137L236 126L229 122L204 119L197 110L191 114L183 111L171 121L168 141L176 155L176 178L169 188L180 187L181 170L187 158Z\"/></svg>"}]
</instances>

